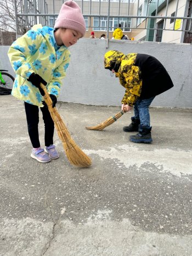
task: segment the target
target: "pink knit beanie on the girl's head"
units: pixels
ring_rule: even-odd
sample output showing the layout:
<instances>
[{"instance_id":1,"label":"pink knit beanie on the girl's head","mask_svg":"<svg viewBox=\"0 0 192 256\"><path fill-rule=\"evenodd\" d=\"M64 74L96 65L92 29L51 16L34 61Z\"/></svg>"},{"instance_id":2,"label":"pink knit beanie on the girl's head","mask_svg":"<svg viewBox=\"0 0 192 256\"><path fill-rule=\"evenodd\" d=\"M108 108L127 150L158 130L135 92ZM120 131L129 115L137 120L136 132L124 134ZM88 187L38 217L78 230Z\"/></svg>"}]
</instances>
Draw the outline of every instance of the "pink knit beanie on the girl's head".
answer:
<instances>
[{"instance_id":1,"label":"pink knit beanie on the girl's head","mask_svg":"<svg viewBox=\"0 0 192 256\"><path fill-rule=\"evenodd\" d=\"M55 21L54 29L58 29L59 27L76 30L84 36L86 23L80 7L74 1L70 0L62 5L58 18Z\"/></svg>"}]
</instances>

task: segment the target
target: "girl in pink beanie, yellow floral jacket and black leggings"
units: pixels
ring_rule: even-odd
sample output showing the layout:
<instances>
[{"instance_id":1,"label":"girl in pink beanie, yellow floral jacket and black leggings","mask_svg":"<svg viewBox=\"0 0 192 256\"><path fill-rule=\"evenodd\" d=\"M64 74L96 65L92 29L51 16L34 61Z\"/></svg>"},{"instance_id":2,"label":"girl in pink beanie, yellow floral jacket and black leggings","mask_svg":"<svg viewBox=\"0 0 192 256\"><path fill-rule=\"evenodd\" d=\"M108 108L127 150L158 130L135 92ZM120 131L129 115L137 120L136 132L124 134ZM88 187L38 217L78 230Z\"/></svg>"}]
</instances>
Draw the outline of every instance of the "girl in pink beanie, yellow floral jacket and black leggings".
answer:
<instances>
[{"instance_id":1,"label":"girl in pink beanie, yellow floral jacket and black leggings","mask_svg":"<svg viewBox=\"0 0 192 256\"><path fill-rule=\"evenodd\" d=\"M35 25L9 48L8 56L16 73L12 95L24 101L33 147L31 157L38 162L47 163L59 158L53 144L54 123L47 106L44 106L40 83L46 85L55 107L70 62L68 47L74 45L85 32L81 9L70 0L62 5L54 29ZM44 148L39 142L39 108L44 121Z\"/></svg>"}]
</instances>

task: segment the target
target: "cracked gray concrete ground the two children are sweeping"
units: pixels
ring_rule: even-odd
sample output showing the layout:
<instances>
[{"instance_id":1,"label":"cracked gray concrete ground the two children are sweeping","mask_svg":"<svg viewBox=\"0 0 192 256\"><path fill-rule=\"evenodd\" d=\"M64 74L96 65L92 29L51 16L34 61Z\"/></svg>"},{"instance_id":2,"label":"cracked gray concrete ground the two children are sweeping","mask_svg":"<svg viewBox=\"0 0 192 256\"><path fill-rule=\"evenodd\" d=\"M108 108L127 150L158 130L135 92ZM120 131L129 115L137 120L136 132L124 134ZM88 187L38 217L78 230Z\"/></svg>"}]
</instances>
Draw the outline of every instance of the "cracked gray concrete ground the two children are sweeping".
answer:
<instances>
[{"instance_id":1,"label":"cracked gray concrete ground the two children are sweeping","mask_svg":"<svg viewBox=\"0 0 192 256\"><path fill-rule=\"evenodd\" d=\"M192 255L191 109L151 108L154 141L135 144L122 131L133 112L88 131L120 108L59 102L93 161L76 168L56 131L60 158L32 159L23 103L0 105L0 255ZM40 118L42 146L43 129Z\"/></svg>"}]
</instances>

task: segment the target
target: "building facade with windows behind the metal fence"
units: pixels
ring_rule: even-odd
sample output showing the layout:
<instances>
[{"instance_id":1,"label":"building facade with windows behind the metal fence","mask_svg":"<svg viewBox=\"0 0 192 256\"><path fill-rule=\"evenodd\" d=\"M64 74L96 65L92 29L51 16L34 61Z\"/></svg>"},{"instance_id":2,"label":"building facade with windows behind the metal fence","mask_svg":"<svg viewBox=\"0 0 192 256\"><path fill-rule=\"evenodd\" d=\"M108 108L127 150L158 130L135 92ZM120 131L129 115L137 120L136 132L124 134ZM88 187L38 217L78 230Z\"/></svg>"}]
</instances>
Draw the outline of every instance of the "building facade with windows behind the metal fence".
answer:
<instances>
[{"instance_id":1,"label":"building facade with windows behind the metal fence","mask_svg":"<svg viewBox=\"0 0 192 256\"><path fill-rule=\"evenodd\" d=\"M47 0L50 13L58 13L64 1ZM123 1L76 1L81 7L87 25L85 37L91 31L97 38L106 34L109 26L109 38L112 38L114 29L121 24L124 35L129 39L191 43L192 40L192 1L190 0L123 0ZM98 16L97 16L98 15ZM109 15L109 24L108 24ZM147 18L154 16L154 18ZM155 17L164 18L155 18ZM176 19L176 17L191 17L191 19ZM53 21L53 22L52 22ZM54 18L50 19L53 25Z\"/></svg>"}]
</instances>

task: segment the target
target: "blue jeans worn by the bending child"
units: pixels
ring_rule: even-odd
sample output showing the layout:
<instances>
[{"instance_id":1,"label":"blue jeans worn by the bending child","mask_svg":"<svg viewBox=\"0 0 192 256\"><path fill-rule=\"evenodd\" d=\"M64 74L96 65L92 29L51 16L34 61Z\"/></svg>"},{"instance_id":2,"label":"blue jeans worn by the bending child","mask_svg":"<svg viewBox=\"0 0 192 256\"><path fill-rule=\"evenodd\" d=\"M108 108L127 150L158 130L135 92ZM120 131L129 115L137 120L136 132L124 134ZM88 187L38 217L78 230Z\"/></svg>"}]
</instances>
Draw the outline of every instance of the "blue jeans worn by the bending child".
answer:
<instances>
[{"instance_id":1,"label":"blue jeans worn by the bending child","mask_svg":"<svg viewBox=\"0 0 192 256\"><path fill-rule=\"evenodd\" d=\"M155 97L138 99L134 104L134 118L140 119L140 124L150 128L149 106Z\"/></svg>"}]
</instances>

